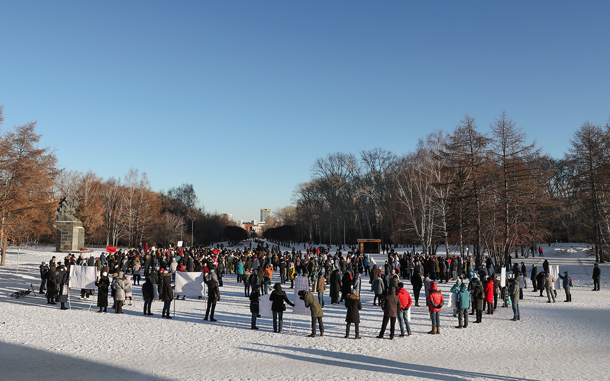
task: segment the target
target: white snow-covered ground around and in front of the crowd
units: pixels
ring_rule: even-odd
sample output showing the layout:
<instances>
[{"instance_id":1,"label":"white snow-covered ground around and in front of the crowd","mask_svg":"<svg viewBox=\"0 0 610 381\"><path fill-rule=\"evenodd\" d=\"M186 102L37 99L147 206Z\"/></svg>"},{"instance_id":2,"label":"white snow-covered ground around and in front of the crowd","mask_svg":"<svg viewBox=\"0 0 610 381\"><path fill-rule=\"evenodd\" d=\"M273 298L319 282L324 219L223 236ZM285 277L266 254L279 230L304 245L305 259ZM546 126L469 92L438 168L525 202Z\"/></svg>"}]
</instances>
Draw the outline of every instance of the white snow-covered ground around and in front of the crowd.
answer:
<instances>
[{"instance_id":1,"label":"white snow-covered ground around and in front of the crowd","mask_svg":"<svg viewBox=\"0 0 610 381\"><path fill-rule=\"evenodd\" d=\"M328 291L325 336L308 338L305 316L295 315L290 330L290 307L284 333L273 333L269 318L259 319L260 330L250 330L248 300L235 276L224 277L217 322L203 321L204 301L193 298L176 301L174 319L160 317L161 302L152 305L155 316L142 316L137 286L134 305L126 305L123 315L95 313L95 303L88 310L88 303L78 299L79 290L71 291L69 311L47 305L38 294L14 299L9 295L30 282L38 290L38 265L49 262L54 252L50 247L21 249L16 275L16 249L9 249L7 266L0 268L0 379L608 380L610 266L600 265L601 291L590 291L594 260L583 251L586 246L544 246L550 264L572 276L572 303L562 302L564 291L559 290L558 302L547 304L546 297L529 292L530 284L520 302L520 322L509 320L511 308L498 307L494 315L483 315L482 324L458 330L451 310L443 308L441 335L426 335L430 321L420 304L412 308L414 335L393 341L387 332L386 339L375 338L382 312L372 305L367 280L362 286L367 290L362 293L362 340L343 338L346 310L330 304ZM379 255L378 262L383 260ZM533 263L542 268L544 258L521 260L529 271ZM450 287L440 287L445 296Z\"/></svg>"}]
</instances>

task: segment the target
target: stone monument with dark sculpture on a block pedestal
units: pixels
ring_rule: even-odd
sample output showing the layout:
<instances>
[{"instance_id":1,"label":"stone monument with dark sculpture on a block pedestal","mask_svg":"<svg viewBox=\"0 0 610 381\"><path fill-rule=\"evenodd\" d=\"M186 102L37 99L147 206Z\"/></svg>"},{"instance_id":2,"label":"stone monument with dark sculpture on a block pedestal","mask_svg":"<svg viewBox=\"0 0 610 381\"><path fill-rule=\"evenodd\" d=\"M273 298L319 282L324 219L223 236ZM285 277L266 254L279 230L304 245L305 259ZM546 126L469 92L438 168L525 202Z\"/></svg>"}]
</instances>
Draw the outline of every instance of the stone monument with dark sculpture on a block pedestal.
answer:
<instances>
[{"instance_id":1,"label":"stone monument with dark sculpture on a block pedestal","mask_svg":"<svg viewBox=\"0 0 610 381\"><path fill-rule=\"evenodd\" d=\"M82 222L74 217L79 205L76 199L62 198L55 215L57 221L53 227L57 229L56 252L80 251L85 246L85 229Z\"/></svg>"}]
</instances>

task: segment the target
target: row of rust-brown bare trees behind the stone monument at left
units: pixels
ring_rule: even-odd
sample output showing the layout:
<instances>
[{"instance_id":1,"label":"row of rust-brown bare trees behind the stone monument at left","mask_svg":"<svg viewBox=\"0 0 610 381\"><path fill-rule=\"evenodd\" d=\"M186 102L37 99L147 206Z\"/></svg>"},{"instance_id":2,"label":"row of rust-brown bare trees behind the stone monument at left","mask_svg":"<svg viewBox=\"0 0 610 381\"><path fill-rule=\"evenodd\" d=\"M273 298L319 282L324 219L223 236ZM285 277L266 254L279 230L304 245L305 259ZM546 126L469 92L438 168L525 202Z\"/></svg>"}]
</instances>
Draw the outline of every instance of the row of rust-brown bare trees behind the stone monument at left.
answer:
<instances>
[{"instance_id":1,"label":"row of rust-brown bare trees behind the stone monument at left","mask_svg":"<svg viewBox=\"0 0 610 381\"><path fill-rule=\"evenodd\" d=\"M0 106L0 126L3 119ZM76 218L85 228L85 244L167 247L180 239L185 246L224 239L240 240L245 230L225 229L226 221L199 207L192 184L167 192L153 191L146 173L130 169L126 176L103 179L92 171L57 168L51 148L40 148L36 123L0 133L0 243L53 243L52 227L62 197L79 199ZM224 237L227 235L228 237ZM246 234L247 236L247 234ZM4 265L2 255L0 265Z\"/></svg>"}]
</instances>

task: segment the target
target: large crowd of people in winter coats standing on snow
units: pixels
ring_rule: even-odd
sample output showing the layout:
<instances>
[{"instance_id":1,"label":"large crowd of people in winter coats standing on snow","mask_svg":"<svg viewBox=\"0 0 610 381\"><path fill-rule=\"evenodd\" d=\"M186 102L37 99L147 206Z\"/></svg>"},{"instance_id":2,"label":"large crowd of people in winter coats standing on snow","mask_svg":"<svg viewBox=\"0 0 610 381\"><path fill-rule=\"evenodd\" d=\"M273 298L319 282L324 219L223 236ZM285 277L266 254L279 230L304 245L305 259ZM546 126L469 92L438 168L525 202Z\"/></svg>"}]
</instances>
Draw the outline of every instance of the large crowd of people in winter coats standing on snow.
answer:
<instances>
[{"instance_id":1,"label":"large crowd of people in winter coats standing on snow","mask_svg":"<svg viewBox=\"0 0 610 381\"><path fill-rule=\"evenodd\" d=\"M66 255L62 260L52 257L49 264L40 265L40 293L46 293L48 304L60 303L62 310L68 309L68 291L70 288L70 266L96 266L99 272L95 286L98 291L98 313L107 312L109 296L112 297L112 309L123 313L123 305L132 302L132 288L140 285L142 279L142 297L144 299L143 315L152 316L153 301L162 301L162 317L171 319L170 306L180 295L174 293L172 283L176 272L203 272L207 288L207 307L204 320L217 321L214 318L215 307L220 301L220 287L223 277L231 275L237 283L243 284L244 296L249 300L251 329L256 326L260 317L260 298L270 293L271 312L273 315L273 332L282 332L283 313L286 304L294 306L282 286L293 289L298 276L307 279L306 290L298 291L306 308L310 310L311 337L324 335L323 308L325 291L329 289L331 304L341 304L346 308L345 338L350 336L354 324L354 338L359 335L362 310L361 294L370 291L374 294L373 306L382 309L381 331L378 338L384 338L389 324L389 338L395 336L395 324L398 319L400 336L411 336L409 312L412 307L419 307L420 294L423 288L425 304L431 320L431 335L440 334L440 312L452 305L453 317L458 318L456 329L468 327L469 318L475 323L483 320L483 315L493 315L498 308L498 299L504 307L511 305L512 321L520 321L519 301L523 299L523 290L528 288L528 269L523 262L514 263L511 276L506 278L506 287L501 286L500 277L493 268L491 258L487 257L475 271L473 258L464 255L422 255L406 252L399 255L388 249L387 260L376 263L375 258L357 251L339 249L331 253L326 247L307 247L303 251L292 248L292 252L282 252L278 244L265 241L254 241L255 246L245 245L234 249L217 244L215 247L193 247L154 249L148 246L103 253L98 258L75 254ZM273 274L279 272L279 282L271 287ZM599 290L601 271L595 263L593 271L594 290ZM363 287L363 278L368 278L368 285ZM570 288L572 279L569 273L559 274L565 291L565 302L572 301ZM276 276L276 279L278 276ZM542 269L533 265L529 269L529 280L533 292L546 292L548 303L556 302L557 293L553 284L556 281L551 275L548 260L544 260ZM290 282L290 286L288 283ZM410 282L413 294L405 288ZM443 295L438 283L455 282L450 294ZM365 283L366 284L366 283ZM272 288L272 290L271 290ZM46 291L45 291L46 290ZM81 298L87 299L95 290L81 290ZM185 299L185 296L182 296ZM202 299L199 296L199 299Z\"/></svg>"}]
</instances>

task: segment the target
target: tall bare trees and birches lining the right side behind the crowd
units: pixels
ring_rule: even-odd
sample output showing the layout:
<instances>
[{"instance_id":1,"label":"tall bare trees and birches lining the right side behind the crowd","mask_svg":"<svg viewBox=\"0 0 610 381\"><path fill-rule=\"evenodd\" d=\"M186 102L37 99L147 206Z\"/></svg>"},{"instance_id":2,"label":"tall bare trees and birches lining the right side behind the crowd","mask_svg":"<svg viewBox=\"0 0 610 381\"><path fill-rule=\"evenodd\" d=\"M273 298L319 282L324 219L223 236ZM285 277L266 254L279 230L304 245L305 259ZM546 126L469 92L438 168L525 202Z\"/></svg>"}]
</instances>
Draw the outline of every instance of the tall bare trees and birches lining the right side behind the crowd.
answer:
<instances>
[{"instance_id":1,"label":"tall bare trees and birches lining the right side behind the crowd","mask_svg":"<svg viewBox=\"0 0 610 381\"><path fill-rule=\"evenodd\" d=\"M454 244L501 264L541 241L583 240L605 260L609 148L610 124L584 123L558 160L527 143L506 113L488 134L466 115L451 134L429 134L401 156L378 148L318 158L312 179L295 188L295 206L274 217L295 226L295 240L314 243L381 238L431 253Z\"/></svg>"}]
</instances>

